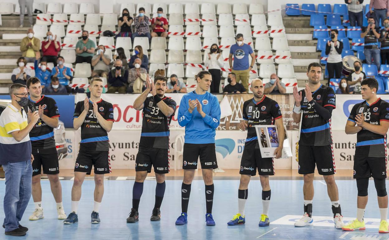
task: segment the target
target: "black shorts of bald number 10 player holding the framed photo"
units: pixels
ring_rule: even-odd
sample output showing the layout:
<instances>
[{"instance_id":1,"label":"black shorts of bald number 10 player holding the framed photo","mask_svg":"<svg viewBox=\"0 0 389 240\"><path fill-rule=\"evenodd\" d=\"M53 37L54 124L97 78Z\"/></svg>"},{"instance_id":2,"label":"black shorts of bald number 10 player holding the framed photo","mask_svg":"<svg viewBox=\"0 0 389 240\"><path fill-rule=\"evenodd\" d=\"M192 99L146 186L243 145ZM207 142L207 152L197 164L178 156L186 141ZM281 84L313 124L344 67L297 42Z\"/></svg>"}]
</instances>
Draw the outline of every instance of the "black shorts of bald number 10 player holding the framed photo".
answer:
<instances>
[{"instance_id":1,"label":"black shorts of bald number 10 player holding the framed photo","mask_svg":"<svg viewBox=\"0 0 389 240\"><path fill-rule=\"evenodd\" d=\"M259 175L274 175L273 158L262 158L260 149L243 149L239 173L255 176L257 168Z\"/></svg>"}]
</instances>

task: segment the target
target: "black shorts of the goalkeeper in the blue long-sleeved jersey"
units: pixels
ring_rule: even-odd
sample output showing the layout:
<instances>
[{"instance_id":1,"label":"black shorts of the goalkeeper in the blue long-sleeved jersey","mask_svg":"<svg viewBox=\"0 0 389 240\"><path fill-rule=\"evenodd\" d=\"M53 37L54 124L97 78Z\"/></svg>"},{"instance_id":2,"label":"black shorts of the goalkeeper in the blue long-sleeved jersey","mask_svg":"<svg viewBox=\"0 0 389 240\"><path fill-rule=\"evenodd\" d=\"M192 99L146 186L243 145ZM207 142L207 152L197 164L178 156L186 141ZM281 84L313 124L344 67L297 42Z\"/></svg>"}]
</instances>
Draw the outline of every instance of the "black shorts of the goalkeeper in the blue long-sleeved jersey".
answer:
<instances>
[{"instance_id":1,"label":"black shorts of the goalkeeper in the blue long-sleeved jersey","mask_svg":"<svg viewBox=\"0 0 389 240\"><path fill-rule=\"evenodd\" d=\"M184 144L182 169L197 169L197 160L200 156L201 168L217 168L216 149L214 143Z\"/></svg>"}]
</instances>

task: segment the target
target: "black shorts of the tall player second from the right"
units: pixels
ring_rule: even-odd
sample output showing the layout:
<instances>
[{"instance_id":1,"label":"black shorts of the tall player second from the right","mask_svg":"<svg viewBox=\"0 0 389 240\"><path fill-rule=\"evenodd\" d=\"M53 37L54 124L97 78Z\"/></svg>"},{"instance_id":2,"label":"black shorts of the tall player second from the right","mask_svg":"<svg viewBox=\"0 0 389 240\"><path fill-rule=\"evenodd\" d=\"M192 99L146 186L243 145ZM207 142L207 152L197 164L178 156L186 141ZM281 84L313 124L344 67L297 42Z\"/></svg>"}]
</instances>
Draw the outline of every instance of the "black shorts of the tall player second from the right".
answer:
<instances>
[{"instance_id":1,"label":"black shorts of the tall player second from the right","mask_svg":"<svg viewBox=\"0 0 389 240\"><path fill-rule=\"evenodd\" d=\"M315 172L315 164L320 175L335 174L335 159L331 145L303 146L298 145L298 173L309 174Z\"/></svg>"}]
</instances>

